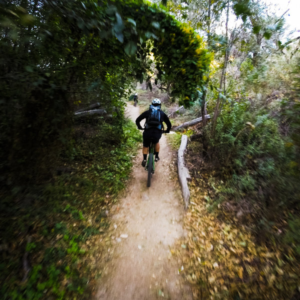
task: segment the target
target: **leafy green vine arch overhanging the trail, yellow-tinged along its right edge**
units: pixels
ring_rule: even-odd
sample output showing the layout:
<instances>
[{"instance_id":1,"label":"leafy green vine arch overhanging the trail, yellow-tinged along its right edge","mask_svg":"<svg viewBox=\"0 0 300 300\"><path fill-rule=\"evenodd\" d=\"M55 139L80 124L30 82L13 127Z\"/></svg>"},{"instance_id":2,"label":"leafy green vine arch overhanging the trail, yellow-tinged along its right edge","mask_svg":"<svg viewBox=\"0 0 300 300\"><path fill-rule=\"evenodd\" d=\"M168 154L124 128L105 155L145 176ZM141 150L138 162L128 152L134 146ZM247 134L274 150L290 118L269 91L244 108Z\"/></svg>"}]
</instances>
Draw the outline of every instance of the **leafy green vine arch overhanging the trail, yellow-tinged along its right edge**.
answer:
<instances>
[{"instance_id":1,"label":"leafy green vine arch overhanging the trail, yellow-tinged along its right edge","mask_svg":"<svg viewBox=\"0 0 300 300\"><path fill-rule=\"evenodd\" d=\"M142 51L145 50L154 54L157 80L171 86L171 94L179 96L184 105L188 106L195 101L196 89L202 87L203 76L208 71L211 59L201 37L187 24L176 21L155 4L148 6L137 1L128 2L124 6L118 3L116 7L124 18L135 21L131 21L130 26L133 23L139 35L139 40L134 38L138 57L144 58L145 53ZM152 39L149 47L144 43L147 39ZM128 42L125 47L128 51L132 48L133 53L133 41ZM142 70L140 75L142 73L145 74L146 70Z\"/></svg>"}]
</instances>

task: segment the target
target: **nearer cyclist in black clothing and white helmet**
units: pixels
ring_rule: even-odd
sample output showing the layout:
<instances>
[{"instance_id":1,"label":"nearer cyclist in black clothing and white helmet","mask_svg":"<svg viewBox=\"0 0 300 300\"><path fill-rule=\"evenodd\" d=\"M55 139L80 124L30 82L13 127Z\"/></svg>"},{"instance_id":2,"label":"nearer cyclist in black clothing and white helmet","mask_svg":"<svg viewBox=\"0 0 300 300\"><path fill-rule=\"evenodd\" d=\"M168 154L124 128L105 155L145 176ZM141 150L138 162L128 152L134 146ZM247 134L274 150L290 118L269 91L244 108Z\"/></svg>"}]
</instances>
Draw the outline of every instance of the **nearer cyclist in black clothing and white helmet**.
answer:
<instances>
[{"instance_id":1,"label":"nearer cyclist in black clothing and white helmet","mask_svg":"<svg viewBox=\"0 0 300 300\"><path fill-rule=\"evenodd\" d=\"M159 109L159 113L160 113L160 124L157 125L157 126L150 126L150 125L147 124L148 117L151 113L151 105L159 107L158 109ZM142 133L142 155L143 155L143 159L142 159L142 162L141 162L142 166L146 165L148 147L150 145L151 139L154 143L155 161L159 160L159 157L158 157L159 139L161 137L162 129L163 129L162 122L164 122L167 126L164 133L169 133L170 128L171 128L171 122L170 122L168 116L162 110L160 110L160 107L161 107L160 100L157 99L157 98L153 99L152 102L151 102L151 105L149 106L148 110L146 110L142 114L140 114L135 120L135 124L136 124L137 128L142 130L143 128L140 125L140 121L144 118L146 119L145 128L144 128L144 131Z\"/></svg>"}]
</instances>

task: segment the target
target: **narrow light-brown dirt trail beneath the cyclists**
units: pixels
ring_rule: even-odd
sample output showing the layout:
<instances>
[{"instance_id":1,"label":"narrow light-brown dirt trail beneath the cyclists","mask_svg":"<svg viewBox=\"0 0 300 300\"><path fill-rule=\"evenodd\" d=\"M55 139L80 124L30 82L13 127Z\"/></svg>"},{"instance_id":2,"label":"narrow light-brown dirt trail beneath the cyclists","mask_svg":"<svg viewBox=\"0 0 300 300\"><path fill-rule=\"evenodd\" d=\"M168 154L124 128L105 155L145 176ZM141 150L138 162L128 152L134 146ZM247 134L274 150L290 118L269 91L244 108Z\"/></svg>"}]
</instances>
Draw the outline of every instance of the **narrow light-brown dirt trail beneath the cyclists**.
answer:
<instances>
[{"instance_id":1,"label":"narrow light-brown dirt trail beneath the cyclists","mask_svg":"<svg viewBox=\"0 0 300 300\"><path fill-rule=\"evenodd\" d=\"M128 104L126 112L135 120L139 109ZM164 134L159 157L148 188L139 151L125 196L112 209L114 248L110 249L112 258L99 281L97 300L192 298L188 284L178 274L181 262L170 253L172 245L184 234L184 208L175 176L176 153Z\"/></svg>"}]
</instances>

